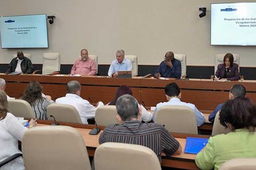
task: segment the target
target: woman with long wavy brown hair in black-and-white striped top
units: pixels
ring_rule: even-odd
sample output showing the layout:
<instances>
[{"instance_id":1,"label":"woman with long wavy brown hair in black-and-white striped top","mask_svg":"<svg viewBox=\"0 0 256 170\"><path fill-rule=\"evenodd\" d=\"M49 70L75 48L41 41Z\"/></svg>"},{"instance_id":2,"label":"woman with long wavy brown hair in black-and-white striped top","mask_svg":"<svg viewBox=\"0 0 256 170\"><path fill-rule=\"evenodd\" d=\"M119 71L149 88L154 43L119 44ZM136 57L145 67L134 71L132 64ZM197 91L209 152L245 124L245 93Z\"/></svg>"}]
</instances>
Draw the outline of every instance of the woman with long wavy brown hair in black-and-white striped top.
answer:
<instances>
[{"instance_id":1,"label":"woman with long wavy brown hair in black-and-white striped top","mask_svg":"<svg viewBox=\"0 0 256 170\"><path fill-rule=\"evenodd\" d=\"M54 101L51 96L42 97L42 87L38 82L29 82L21 99L31 105L37 119L47 120L47 107Z\"/></svg>"}]
</instances>

